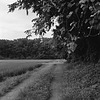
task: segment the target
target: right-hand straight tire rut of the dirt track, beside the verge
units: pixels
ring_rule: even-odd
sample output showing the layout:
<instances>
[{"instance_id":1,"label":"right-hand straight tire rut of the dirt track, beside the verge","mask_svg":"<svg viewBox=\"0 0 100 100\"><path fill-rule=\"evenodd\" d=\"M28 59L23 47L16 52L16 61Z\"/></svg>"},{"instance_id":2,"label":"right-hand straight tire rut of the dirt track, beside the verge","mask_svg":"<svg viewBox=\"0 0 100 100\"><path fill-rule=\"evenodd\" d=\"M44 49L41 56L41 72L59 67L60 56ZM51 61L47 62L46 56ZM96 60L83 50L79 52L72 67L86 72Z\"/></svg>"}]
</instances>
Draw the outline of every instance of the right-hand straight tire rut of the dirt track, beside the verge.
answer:
<instances>
[{"instance_id":1,"label":"right-hand straight tire rut of the dirt track, beside the verge","mask_svg":"<svg viewBox=\"0 0 100 100\"><path fill-rule=\"evenodd\" d=\"M50 100L62 100L61 80L62 80L62 64L58 64L54 71L54 81L51 85L52 96Z\"/></svg>"}]
</instances>

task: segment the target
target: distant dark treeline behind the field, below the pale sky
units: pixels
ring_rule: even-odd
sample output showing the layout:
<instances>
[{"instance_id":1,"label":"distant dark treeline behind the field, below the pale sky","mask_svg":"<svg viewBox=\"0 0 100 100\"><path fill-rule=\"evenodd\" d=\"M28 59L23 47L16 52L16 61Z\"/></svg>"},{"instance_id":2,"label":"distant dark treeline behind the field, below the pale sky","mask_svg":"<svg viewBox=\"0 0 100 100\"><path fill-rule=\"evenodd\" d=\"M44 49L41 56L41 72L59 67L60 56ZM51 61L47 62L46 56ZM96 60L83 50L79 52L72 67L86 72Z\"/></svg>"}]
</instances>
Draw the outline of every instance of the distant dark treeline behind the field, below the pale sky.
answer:
<instances>
[{"instance_id":1,"label":"distant dark treeline behind the field, below the pale sky","mask_svg":"<svg viewBox=\"0 0 100 100\"><path fill-rule=\"evenodd\" d=\"M0 40L0 59L59 59L52 38Z\"/></svg>"}]
</instances>

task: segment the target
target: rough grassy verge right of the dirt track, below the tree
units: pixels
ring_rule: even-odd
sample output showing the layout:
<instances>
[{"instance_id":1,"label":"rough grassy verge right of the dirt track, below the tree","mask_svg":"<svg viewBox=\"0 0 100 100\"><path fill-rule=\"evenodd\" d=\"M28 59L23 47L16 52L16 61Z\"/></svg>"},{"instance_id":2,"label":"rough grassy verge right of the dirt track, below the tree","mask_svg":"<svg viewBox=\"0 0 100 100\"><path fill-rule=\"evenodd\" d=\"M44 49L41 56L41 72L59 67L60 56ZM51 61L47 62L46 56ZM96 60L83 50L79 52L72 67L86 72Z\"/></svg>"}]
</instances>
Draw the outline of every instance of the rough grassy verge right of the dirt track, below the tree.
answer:
<instances>
[{"instance_id":1,"label":"rough grassy verge right of the dirt track, below the tree","mask_svg":"<svg viewBox=\"0 0 100 100\"><path fill-rule=\"evenodd\" d=\"M100 100L100 63L67 65L61 84L62 100Z\"/></svg>"}]
</instances>

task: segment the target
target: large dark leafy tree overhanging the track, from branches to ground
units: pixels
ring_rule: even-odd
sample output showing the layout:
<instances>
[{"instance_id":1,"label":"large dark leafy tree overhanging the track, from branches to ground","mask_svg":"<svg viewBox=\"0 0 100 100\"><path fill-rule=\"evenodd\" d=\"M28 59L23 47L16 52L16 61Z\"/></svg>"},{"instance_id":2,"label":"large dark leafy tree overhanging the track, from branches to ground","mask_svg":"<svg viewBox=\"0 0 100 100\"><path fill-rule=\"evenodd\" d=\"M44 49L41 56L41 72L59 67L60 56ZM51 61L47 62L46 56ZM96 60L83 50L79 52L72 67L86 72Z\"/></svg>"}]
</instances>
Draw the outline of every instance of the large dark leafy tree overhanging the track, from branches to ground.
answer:
<instances>
[{"instance_id":1,"label":"large dark leafy tree overhanging the track, from branches to ground","mask_svg":"<svg viewBox=\"0 0 100 100\"><path fill-rule=\"evenodd\" d=\"M99 45L97 45L100 38L100 2L98 0L17 0L9 5L9 12L16 8L25 9L27 14L28 10L32 9L38 15L38 18L32 20L35 34L46 33L57 18L59 26L54 30L54 38L60 40L61 45L67 46L71 42L77 44L77 46L73 45L75 48L70 51L82 60L90 60L91 54L92 58L95 55L99 58L97 57L100 55Z\"/></svg>"}]
</instances>

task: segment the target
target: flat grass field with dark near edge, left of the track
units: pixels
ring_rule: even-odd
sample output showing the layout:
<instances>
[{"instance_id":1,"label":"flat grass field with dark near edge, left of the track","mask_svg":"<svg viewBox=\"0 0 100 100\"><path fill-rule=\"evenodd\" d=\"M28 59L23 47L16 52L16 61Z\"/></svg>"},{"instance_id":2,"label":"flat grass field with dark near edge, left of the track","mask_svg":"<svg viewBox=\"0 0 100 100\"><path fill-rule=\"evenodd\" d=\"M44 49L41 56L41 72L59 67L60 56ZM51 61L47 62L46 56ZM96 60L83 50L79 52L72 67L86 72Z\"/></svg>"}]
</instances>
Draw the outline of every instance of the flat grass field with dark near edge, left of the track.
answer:
<instances>
[{"instance_id":1,"label":"flat grass field with dark near edge, left of the track","mask_svg":"<svg viewBox=\"0 0 100 100\"><path fill-rule=\"evenodd\" d=\"M27 71L32 71L40 67L42 61L32 60L2 60L0 61L0 81L2 82L7 77L14 77L25 74Z\"/></svg>"}]
</instances>

